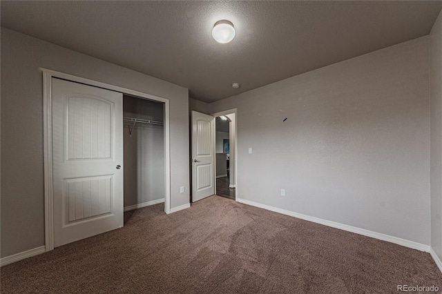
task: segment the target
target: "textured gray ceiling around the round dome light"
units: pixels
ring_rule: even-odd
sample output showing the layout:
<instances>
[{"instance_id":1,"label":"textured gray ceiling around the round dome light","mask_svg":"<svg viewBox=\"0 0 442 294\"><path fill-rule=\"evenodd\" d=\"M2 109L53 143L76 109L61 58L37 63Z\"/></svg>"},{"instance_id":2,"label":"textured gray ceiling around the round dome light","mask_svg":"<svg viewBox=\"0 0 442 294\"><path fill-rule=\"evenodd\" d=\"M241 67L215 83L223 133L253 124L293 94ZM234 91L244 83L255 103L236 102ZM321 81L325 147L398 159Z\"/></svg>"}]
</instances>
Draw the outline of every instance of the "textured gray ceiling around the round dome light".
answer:
<instances>
[{"instance_id":1,"label":"textured gray ceiling around the round dome light","mask_svg":"<svg viewBox=\"0 0 442 294\"><path fill-rule=\"evenodd\" d=\"M427 35L441 1L1 1L1 26L206 102ZM231 43L211 37L229 19ZM239 82L241 88L231 88Z\"/></svg>"}]
</instances>

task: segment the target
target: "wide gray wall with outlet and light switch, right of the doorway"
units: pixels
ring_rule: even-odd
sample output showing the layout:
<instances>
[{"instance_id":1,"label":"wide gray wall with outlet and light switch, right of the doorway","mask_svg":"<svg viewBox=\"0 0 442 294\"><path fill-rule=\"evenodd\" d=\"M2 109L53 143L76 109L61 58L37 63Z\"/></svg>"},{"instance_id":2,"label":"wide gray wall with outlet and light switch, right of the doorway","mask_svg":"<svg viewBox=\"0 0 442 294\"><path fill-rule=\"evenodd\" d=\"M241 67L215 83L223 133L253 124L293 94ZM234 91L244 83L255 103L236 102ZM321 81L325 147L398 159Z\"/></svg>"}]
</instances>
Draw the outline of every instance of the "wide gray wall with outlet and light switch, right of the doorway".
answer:
<instances>
[{"instance_id":1,"label":"wide gray wall with outlet and light switch, right of the doorway","mask_svg":"<svg viewBox=\"0 0 442 294\"><path fill-rule=\"evenodd\" d=\"M238 197L429 245L428 57L421 37L211 104L238 108Z\"/></svg>"}]
</instances>

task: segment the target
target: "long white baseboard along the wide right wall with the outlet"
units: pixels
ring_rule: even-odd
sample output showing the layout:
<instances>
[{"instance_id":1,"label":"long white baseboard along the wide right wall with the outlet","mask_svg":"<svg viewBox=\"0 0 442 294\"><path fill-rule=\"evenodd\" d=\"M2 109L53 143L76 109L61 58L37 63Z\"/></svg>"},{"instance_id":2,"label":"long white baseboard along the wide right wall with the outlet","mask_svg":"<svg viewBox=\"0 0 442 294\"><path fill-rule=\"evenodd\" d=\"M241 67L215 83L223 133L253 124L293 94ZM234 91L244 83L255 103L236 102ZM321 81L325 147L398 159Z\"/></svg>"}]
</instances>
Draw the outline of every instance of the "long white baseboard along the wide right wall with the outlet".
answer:
<instances>
[{"instance_id":1,"label":"long white baseboard along the wide right wall with the outlet","mask_svg":"<svg viewBox=\"0 0 442 294\"><path fill-rule=\"evenodd\" d=\"M383 241L387 241L387 242L391 242L394 244L398 244L401 246L405 246L408 248L412 248L412 249L417 249L419 251L425 251L425 252L430 252L430 246L429 245L425 245L425 244L421 244L418 242L414 242L414 241L410 241L410 240L406 240L406 239L401 239L398 237L393 237L390 235L385 235L382 233L376 233L374 231L369 231L369 230L365 230L365 228L356 228L356 226L349 226L347 224L340 224L338 222L332 222L329 221L327 219L320 219L318 217L311 217L309 215L302 215L301 213L295 213L293 211L290 210L285 210L282 208L276 208L273 206L268 206L265 204L260 204L260 203L256 203L256 202L252 202L246 199L240 199L238 198L236 201L240 202L240 203L244 203L244 204L248 204L251 206L256 206L259 208L264 208L267 210L271 210L274 211L276 213L281 213L282 215L289 215L291 217L296 217L298 219L304 219L307 220L309 222L315 222L316 224L323 224L325 226L331 226L332 228L339 228L340 230L343 231L348 231L348 232L352 232L352 233L356 233L359 235L364 235L367 237L372 237L375 239L380 239Z\"/></svg>"}]
</instances>

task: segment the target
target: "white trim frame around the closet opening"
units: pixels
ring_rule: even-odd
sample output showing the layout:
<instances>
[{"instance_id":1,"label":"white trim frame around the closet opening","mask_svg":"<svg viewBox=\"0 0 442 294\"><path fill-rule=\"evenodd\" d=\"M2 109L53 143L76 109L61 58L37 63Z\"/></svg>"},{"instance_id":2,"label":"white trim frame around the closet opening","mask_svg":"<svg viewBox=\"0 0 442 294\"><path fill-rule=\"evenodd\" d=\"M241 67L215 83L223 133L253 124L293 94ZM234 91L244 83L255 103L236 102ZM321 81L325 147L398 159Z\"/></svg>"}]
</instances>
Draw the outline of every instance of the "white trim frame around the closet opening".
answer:
<instances>
[{"instance_id":1,"label":"white trim frame around the closet opening","mask_svg":"<svg viewBox=\"0 0 442 294\"><path fill-rule=\"evenodd\" d=\"M54 217L53 217L53 186L52 186L52 77L66 79L89 86L105 88L122 92L123 94L135 95L140 98L150 99L164 103L164 212L171 213L171 154L170 154L170 122L169 122L169 99L138 92L135 90L105 84L92 79L68 75L64 72L40 68L43 72L43 127L44 127L44 216L45 216L45 249L54 249Z\"/></svg>"}]
</instances>

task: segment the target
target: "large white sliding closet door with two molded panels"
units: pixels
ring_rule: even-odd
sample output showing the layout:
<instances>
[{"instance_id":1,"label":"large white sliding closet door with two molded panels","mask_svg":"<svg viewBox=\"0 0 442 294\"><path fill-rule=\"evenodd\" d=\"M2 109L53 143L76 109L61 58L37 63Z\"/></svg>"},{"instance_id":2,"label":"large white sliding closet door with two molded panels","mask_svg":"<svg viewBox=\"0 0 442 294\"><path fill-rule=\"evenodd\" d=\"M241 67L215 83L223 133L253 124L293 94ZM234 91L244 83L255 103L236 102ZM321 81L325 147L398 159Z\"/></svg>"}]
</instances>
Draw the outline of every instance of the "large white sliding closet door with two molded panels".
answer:
<instances>
[{"instance_id":1,"label":"large white sliding closet door with two molded panels","mask_svg":"<svg viewBox=\"0 0 442 294\"><path fill-rule=\"evenodd\" d=\"M54 246L123 226L123 95L52 78Z\"/></svg>"}]
</instances>

